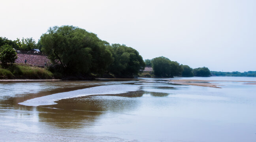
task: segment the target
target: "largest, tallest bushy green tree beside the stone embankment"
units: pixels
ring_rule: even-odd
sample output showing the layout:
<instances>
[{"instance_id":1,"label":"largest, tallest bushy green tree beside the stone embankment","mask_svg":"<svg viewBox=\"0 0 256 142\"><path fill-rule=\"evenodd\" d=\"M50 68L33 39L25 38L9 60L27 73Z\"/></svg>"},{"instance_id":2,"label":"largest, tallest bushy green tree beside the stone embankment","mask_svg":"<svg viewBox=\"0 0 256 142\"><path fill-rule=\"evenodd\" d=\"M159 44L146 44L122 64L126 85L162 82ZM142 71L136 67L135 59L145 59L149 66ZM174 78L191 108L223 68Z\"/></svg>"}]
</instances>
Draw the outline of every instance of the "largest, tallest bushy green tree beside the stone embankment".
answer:
<instances>
[{"instance_id":1,"label":"largest, tallest bushy green tree beside the stone embankment","mask_svg":"<svg viewBox=\"0 0 256 142\"><path fill-rule=\"evenodd\" d=\"M42 50L65 73L103 73L113 62L106 41L74 26L54 26L40 39Z\"/></svg>"}]
</instances>

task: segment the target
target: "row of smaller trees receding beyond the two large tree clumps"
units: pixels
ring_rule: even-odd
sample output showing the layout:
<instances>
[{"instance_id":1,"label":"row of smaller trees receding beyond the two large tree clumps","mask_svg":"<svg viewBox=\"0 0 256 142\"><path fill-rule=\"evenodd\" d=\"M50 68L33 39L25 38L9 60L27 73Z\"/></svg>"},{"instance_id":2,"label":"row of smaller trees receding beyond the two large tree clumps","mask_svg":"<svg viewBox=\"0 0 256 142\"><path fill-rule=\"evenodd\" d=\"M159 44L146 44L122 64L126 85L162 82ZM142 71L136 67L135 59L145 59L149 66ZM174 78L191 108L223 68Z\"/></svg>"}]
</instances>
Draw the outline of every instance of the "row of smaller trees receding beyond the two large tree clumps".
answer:
<instances>
[{"instance_id":1,"label":"row of smaller trees receding beyond the two large tree clumps","mask_svg":"<svg viewBox=\"0 0 256 142\"><path fill-rule=\"evenodd\" d=\"M166 57L157 57L145 60L146 66L152 66L155 77L209 77L210 70L207 67L199 67L192 69L188 65L179 64L176 61L171 61Z\"/></svg>"}]
</instances>

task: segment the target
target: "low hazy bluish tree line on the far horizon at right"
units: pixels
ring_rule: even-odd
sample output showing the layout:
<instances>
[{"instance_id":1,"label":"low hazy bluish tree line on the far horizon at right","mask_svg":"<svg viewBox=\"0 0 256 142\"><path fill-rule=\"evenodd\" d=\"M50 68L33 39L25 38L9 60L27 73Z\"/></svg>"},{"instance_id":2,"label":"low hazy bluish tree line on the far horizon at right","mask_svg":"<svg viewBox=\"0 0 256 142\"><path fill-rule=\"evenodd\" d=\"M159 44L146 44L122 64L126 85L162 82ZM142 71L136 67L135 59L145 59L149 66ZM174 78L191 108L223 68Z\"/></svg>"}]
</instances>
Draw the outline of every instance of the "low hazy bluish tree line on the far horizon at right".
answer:
<instances>
[{"instance_id":1,"label":"low hazy bluish tree line on the far horizon at right","mask_svg":"<svg viewBox=\"0 0 256 142\"><path fill-rule=\"evenodd\" d=\"M211 71L212 76L228 76L228 77L256 77L256 71L248 71L248 72L221 72L221 71Z\"/></svg>"}]
</instances>

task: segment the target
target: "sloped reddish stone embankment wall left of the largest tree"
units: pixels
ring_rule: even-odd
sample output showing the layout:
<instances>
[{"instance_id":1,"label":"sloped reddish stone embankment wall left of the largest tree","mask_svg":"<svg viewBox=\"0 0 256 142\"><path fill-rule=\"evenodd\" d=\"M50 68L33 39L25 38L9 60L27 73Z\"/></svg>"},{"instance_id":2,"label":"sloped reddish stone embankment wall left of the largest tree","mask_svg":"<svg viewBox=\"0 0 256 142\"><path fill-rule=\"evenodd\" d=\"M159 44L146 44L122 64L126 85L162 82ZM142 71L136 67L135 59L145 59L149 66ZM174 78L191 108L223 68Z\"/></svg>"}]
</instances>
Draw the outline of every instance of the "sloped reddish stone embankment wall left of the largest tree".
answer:
<instances>
[{"instance_id":1,"label":"sloped reddish stone embankment wall left of the largest tree","mask_svg":"<svg viewBox=\"0 0 256 142\"><path fill-rule=\"evenodd\" d=\"M17 57L18 58L15 60L15 63L24 64L26 60L27 61L26 64L36 65L36 66L44 66L45 63L47 65L51 64L51 61L45 55L18 53Z\"/></svg>"}]
</instances>

